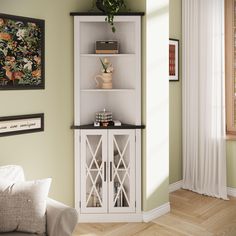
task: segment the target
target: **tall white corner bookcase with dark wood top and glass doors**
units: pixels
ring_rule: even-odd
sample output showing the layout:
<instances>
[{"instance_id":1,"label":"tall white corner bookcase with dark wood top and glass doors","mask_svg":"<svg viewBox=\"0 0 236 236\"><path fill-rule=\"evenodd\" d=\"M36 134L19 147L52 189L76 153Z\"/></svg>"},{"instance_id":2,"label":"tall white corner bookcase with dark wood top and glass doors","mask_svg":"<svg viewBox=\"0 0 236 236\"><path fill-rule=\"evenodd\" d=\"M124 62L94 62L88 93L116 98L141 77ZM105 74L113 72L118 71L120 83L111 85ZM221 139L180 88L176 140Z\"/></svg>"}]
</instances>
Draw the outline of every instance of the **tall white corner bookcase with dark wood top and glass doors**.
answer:
<instances>
[{"instance_id":1,"label":"tall white corner bookcase with dark wood top and glass doors","mask_svg":"<svg viewBox=\"0 0 236 236\"><path fill-rule=\"evenodd\" d=\"M80 222L142 221L141 16L99 13L74 17L75 206ZM119 54L95 54L98 40L117 40ZM113 64L113 88L97 89L100 58ZM95 113L112 112L119 127L94 127Z\"/></svg>"}]
</instances>

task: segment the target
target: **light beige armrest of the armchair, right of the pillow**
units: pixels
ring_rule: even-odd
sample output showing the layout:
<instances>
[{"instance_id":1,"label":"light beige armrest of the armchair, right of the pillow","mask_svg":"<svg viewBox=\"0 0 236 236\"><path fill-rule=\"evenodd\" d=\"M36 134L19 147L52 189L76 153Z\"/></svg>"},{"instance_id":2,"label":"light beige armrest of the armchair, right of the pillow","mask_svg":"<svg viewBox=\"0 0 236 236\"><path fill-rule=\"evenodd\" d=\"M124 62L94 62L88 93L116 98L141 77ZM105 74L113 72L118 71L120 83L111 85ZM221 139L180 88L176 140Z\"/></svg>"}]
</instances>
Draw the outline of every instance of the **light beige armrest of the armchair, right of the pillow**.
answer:
<instances>
[{"instance_id":1,"label":"light beige armrest of the armchair, right of the pillow","mask_svg":"<svg viewBox=\"0 0 236 236\"><path fill-rule=\"evenodd\" d=\"M71 236L78 221L74 208L48 198L47 200L47 235Z\"/></svg>"}]
</instances>

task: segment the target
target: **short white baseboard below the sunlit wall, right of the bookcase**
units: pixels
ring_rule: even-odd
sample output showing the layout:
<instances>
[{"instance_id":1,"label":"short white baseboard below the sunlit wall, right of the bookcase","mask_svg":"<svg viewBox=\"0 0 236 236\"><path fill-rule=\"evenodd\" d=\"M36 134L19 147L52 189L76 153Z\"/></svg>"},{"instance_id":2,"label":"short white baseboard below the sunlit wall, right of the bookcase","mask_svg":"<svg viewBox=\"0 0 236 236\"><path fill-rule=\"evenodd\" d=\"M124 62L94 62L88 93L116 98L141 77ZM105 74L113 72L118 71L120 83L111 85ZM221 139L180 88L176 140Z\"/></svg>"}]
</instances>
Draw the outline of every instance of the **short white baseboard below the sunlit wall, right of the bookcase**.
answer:
<instances>
[{"instance_id":1,"label":"short white baseboard below the sunlit wall, right of the bookcase","mask_svg":"<svg viewBox=\"0 0 236 236\"><path fill-rule=\"evenodd\" d=\"M170 203L165 203L151 211L143 212L143 221L149 222L170 212Z\"/></svg>"}]
</instances>

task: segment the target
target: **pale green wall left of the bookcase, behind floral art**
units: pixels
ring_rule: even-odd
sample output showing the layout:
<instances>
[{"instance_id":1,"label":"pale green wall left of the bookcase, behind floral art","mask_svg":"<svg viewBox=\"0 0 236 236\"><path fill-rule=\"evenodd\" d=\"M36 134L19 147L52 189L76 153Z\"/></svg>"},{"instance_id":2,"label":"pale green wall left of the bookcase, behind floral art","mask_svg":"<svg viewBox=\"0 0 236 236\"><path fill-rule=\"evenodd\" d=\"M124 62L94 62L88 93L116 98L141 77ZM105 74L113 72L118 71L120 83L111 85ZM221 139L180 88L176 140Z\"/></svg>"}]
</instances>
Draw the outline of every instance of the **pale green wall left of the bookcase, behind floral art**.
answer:
<instances>
[{"instance_id":1,"label":"pale green wall left of the bookcase, behind floral art","mask_svg":"<svg viewBox=\"0 0 236 236\"><path fill-rule=\"evenodd\" d=\"M1 12L46 21L46 89L1 91L0 116L45 114L45 131L0 138L0 165L23 166L27 179L52 177L50 196L73 205L73 18L84 0L1 0Z\"/></svg>"}]
</instances>

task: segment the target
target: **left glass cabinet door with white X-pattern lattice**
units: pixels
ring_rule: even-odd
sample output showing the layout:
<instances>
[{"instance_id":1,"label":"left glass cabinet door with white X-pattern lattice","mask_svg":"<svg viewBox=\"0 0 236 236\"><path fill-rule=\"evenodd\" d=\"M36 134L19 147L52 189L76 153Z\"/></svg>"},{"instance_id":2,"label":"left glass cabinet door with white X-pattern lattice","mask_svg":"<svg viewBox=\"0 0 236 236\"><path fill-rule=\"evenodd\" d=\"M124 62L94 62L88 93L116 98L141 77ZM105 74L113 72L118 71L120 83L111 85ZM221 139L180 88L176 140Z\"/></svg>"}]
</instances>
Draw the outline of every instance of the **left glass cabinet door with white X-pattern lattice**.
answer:
<instances>
[{"instance_id":1,"label":"left glass cabinet door with white X-pattern lattice","mask_svg":"<svg viewBox=\"0 0 236 236\"><path fill-rule=\"evenodd\" d=\"M107 212L107 133L81 131L81 212Z\"/></svg>"}]
</instances>

